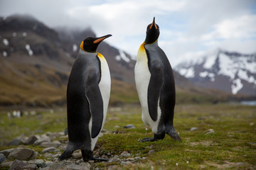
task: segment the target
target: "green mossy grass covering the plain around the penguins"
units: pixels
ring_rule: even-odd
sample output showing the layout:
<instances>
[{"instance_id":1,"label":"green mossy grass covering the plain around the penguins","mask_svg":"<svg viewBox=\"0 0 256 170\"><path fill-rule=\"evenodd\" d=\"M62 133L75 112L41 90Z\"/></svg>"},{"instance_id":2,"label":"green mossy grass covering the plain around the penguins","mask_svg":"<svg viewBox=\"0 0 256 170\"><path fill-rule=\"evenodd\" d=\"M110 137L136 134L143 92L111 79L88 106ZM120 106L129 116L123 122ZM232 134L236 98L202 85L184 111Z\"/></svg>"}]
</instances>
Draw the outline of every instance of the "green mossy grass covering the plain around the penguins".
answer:
<instances>
[{"instance_id":1,"label":"green mossy grass covering the plain around the penguins","mask_svg":"<svg viewBox=\"0 0 256 170\"><path fill-rule=\"evenodd\" d=\"M166 135L164 140L142 143L137 141L152 137L153 133L142 123L140 108L110 108L104 127L110 132L97 142L100 154L110 152L113 157L127 151L132 154L131 157L146 159L129 166L119 163L97 163L93 166L101 169L112 165L122 169L255 169L256 145L250 143L256 143L255 113L256 106L178 105L174 125L182 142L176 142ZM22 134L29 136L32 133L59 132L66 127L65 111L38 111L37 115L28 118L12 119L1 111L0 123L1 142ZM128 124L136 128L122 128ZM191 131L192 127L198 130ZM206 135L209 129L215 132ZM7 147L1 146L1 149ZM41 148L34 149L41 152ZM149 155L150 149L155 152ZM242 164L238 165L239 162Z\"/></svg>"}]
</instances>

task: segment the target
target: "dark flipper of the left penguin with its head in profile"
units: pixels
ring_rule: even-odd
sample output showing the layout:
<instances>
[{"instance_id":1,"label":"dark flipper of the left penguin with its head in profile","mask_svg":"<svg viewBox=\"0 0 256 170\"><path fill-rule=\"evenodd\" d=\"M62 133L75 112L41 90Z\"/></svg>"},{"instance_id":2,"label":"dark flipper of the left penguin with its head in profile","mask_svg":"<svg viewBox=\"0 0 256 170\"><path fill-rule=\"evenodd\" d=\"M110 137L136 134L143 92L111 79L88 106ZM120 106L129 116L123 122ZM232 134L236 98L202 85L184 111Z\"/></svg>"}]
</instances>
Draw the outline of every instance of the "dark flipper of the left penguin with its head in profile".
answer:
<instances>
[{"instance_id":1,"label":"dark flipper of the left penguin with its head in profile","mask_svg":"<svg viewBox=\"0 0 256 170\"><path fill-rule=\"evenodd\" d=\"M103 121L103 100L97 81L97 72L93 70L87 72L87 80L85 82L85 96L89 102L90 113L92 115L91 137L95 138L100 133Z\"/></svg>"}]
</instances>

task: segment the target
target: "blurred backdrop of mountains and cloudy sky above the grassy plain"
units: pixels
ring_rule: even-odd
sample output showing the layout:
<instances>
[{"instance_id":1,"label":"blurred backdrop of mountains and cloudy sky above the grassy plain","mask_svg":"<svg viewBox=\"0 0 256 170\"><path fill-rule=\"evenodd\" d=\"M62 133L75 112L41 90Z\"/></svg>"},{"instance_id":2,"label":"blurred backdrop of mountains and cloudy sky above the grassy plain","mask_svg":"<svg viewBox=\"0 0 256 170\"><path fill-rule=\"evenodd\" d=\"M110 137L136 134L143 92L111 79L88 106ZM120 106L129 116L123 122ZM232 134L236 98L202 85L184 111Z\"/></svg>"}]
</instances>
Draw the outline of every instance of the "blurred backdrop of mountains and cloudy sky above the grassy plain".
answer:
<instances>
[{"instance_id":1,"label":"blurred backdrop of mountains and cloudy sky above the grassy plain","mask_svg":"<svg viewBox=\"0 0 256 170\"><path fill-rule=\"evenodd\" d=\"M153 17L176 103L255 104L256 1L1 0L0 16L0 106L65 106L80 42L107 34L110 105L139 103L134 65Z\"/></svg>"}]
</instances>

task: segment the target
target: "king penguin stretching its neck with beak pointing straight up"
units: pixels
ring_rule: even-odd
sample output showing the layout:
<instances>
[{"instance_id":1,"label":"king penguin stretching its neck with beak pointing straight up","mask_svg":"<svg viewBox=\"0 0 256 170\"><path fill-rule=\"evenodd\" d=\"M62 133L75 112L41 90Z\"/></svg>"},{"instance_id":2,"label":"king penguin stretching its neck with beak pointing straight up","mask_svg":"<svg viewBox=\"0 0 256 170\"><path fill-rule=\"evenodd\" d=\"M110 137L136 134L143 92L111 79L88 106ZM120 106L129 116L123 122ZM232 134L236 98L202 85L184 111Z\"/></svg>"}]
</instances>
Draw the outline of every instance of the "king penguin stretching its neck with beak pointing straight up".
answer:
<instances>
[{"instance_id":1,"label":"king penguin stretching its neck with beak pointing straight up","mask_svg":"<svg viewBox=\"0 0 256 170\"><path fill-rule=\"evenodd\" d=\"M181 140L174 129L174 72L164 51L158 45L159 34L159 26L154 18L146 28L146 39L139 47L134 69L142 106L142 121L154 132L154 137L146 137L139 142L162 140L165 134L174 140Z\"/></svg>"}]
</instances>

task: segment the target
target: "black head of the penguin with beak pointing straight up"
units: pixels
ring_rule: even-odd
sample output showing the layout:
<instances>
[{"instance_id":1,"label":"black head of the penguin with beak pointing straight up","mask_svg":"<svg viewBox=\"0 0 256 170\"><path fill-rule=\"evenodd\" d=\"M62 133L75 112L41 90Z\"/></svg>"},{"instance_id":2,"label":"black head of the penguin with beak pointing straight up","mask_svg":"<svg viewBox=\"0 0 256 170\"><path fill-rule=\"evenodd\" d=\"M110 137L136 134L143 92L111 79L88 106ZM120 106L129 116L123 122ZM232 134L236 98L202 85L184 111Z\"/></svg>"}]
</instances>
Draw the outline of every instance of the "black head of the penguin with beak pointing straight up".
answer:
<instances>
[{"instance_id":1,"label":"black head of the penguin with beak pointing straight up","mask_svg":"<svg viewBox=\"0 0 256 170\"><path fill-rule=\"evenodd\" d=\"M146 28L146 44L151 44L159 38L159 26L155 23L155 18L153 19L153 22L149 24L149 26Z\"/></svg>"}]
</instances>

